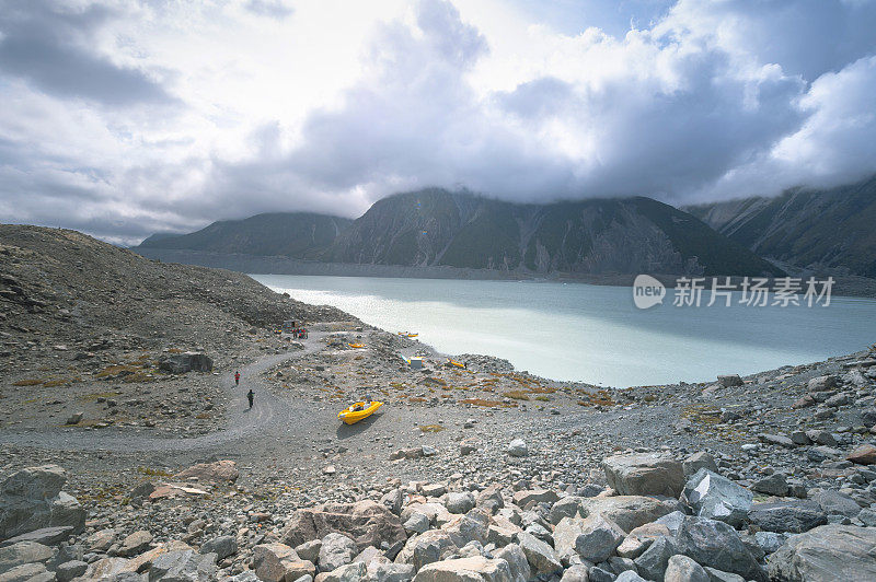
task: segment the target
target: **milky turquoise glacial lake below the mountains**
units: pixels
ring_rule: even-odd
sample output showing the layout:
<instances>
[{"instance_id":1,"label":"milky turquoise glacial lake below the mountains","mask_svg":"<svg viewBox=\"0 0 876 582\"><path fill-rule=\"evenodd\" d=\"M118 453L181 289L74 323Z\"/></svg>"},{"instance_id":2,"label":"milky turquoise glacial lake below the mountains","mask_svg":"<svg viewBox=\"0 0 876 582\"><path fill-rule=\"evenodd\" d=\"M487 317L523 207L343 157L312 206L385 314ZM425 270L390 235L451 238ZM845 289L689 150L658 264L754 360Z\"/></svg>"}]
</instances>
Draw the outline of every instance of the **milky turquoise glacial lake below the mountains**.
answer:
<instances>
[{"instance_id":1,"label":"milky turquoise glacial lake below the mountains","mask_svg":"<svg viewBox=\"0 0 876 582\"><path fill-rule=\"evenodd\" d=\"M306 303L389 331L416 331L447 354L484 353L518 370L603 386L702 382L823 360L876 342L876 300L749 306L734 292L702 305L639 310L633 289L545 281L252 275ZM802 296L800 296L802 299Z\"/></svg>"}]
</instances>

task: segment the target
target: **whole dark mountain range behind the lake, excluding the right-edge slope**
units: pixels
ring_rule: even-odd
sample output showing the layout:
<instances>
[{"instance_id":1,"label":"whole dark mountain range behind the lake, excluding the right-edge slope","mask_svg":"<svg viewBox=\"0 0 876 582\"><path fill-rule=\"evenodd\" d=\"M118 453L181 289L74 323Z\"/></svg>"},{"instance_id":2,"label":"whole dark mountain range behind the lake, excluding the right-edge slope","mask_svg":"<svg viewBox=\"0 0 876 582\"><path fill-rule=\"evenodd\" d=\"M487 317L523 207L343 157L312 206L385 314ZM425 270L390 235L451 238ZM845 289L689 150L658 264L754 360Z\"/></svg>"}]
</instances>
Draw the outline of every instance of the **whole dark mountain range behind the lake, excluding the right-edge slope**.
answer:
<instances>
[{"instance_id":1,"label":"whole dark mountain range behind the lake, excluding the right-edge slope","mask_svg":"<svg viewBox=\"0 0 876 582\"><path fill-rule=\"evenodd\" d=\"M258 214L191 234L162 233L137 248L538 275L783 273L694 216L650 198L523 205L440 188L381 199L356 220Z\"/></svg>"}]
</instances>

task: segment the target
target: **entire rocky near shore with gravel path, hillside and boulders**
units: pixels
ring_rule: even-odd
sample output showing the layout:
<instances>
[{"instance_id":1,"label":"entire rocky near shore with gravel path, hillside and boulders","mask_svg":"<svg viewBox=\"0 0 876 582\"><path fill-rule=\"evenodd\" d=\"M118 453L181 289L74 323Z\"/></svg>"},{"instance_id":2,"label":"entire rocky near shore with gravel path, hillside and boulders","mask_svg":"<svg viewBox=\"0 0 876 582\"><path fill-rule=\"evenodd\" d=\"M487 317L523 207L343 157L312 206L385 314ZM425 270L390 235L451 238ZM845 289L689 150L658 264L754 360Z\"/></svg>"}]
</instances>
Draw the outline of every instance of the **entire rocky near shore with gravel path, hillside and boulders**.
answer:
<instances>
[{"instance_id":1,"label":"entire rocky near shore with gravel path, hillside and boulders","mask_svg":"<svg viewBox=\"0 0 876 582\"><path fill-rule=\"evenodd\" d=\"M871 351L599 389L4 229L0 581L876 577Z\"/></svg>"}]
</instances>

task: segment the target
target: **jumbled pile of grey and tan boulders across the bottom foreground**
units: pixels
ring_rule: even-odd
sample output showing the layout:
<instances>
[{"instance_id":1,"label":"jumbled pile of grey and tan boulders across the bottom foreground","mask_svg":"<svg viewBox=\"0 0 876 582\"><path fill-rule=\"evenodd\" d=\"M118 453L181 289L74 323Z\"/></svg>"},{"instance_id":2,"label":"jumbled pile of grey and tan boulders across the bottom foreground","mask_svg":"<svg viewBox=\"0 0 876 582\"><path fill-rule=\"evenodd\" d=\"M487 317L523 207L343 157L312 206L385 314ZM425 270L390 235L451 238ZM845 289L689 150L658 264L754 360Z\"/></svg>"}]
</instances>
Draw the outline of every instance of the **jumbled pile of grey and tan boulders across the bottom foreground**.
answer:
<instances>
[{"instance_id":1,"label":"jumbled pile of grey and tan boulders across the bottom foreground","mask_svg":"<svg viewBox=\"0 0 876 582\"><path fill-rule=\"evenodd\" d=\"M193 516L162 542L146 529L85 531L60 491L64 470L28 468L2 485L0 581L876 579L876 507L842 492L779 484L764 497L765 485L728 479L708 453L625 452L602 468L604 479L564 490L396 479L355 502L255 516L237 533ZM230 462L174 476L235 478Z\"/></svg>"}]
</instances>

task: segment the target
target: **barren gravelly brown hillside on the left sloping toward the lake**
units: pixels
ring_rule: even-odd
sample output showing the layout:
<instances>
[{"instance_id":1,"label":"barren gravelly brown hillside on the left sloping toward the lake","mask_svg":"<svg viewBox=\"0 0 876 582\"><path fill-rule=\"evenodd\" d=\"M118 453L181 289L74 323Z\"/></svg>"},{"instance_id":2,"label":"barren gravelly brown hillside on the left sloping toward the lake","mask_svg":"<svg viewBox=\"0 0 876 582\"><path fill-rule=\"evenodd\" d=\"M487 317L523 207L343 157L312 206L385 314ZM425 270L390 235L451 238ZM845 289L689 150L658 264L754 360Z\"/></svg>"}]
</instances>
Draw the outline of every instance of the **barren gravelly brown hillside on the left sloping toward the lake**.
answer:
<instances>
[{"instance_id":1,"label":"barren gravelly brown hillside on the left sloping toward the lake","mask_svg":"<svg viewBox=\"0 0 876 582\"><path fill-rule=\"evenodd\" d=\"M233 352L286 318L344 318L237 272L152 261L76 231L0 225L0 362L110 346ZM93 353L92 353L93 356ZM83 356L84 357L84 356ZM48 358L48 360L46 360Z\"/></svg>"}]
</instances>

